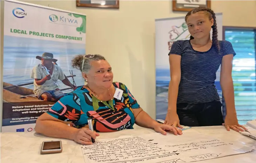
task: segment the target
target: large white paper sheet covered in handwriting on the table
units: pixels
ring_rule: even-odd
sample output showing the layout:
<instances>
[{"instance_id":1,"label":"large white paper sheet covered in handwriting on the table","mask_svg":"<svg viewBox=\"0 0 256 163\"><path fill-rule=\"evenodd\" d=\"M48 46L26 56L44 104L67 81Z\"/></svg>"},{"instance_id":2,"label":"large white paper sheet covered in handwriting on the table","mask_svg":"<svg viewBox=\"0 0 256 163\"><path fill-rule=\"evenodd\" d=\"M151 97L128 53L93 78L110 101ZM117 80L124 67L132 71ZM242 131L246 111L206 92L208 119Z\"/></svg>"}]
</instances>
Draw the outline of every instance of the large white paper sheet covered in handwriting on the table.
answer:
<instances>
[{"instance_id":1,"label":"large white paper sheet covered in handwriting on the table","mask_svg":"<svg viewBox=\"0 0 256 163\"><path fill-rule=\"evenodd\" d=\"M222 141L197 132L179 136L146 134L82 145L85 160L89 163L184 163L241 154L253 149L256 149L256 142Z\"/></svg>"}]
</instances>

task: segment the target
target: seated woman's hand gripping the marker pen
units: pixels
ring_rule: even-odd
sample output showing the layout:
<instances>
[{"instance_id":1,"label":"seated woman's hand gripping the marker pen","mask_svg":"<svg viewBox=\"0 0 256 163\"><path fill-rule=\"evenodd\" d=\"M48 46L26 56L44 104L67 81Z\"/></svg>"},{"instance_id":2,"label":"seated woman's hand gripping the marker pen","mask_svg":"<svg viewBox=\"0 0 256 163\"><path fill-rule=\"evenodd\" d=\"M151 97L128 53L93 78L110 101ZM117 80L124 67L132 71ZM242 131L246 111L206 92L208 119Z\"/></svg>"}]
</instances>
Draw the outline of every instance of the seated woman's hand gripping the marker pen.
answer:
<instances>
[{"instance_id":1,"label":"seated woman's hand gripping the marker pen","mask_svg":"<svg viewBox=\"0 0 256 163\"><path fill-rule=\"evenodd\" d=\"M74 133L72 139L80 144L90 145L93 144L91 138L96 139L97 136L100 136L100 134L95 131L91 131L88 128L81 128Z\"/></svg>"}]
</instances>

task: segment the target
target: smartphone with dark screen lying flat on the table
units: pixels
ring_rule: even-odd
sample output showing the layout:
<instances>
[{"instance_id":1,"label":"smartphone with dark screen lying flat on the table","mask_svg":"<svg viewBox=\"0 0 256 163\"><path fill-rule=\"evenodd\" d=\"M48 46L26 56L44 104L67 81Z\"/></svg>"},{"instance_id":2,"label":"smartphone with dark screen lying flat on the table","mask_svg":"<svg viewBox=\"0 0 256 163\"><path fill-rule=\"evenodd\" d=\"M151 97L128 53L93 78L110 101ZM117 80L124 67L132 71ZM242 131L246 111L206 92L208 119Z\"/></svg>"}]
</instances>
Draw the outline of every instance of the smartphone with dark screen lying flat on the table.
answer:
<instances>
[{"instance_id":1,"label":"smartphone with dark screen lying flat on the table","mask_svg":"<svg viewBox=\"0 0 256 163\"><path fill-rule=\"evenodd\" d=\"M41 154L53 154L62 152L62 145L60 140L43 141Z\"/></svg>"}]
</instances>

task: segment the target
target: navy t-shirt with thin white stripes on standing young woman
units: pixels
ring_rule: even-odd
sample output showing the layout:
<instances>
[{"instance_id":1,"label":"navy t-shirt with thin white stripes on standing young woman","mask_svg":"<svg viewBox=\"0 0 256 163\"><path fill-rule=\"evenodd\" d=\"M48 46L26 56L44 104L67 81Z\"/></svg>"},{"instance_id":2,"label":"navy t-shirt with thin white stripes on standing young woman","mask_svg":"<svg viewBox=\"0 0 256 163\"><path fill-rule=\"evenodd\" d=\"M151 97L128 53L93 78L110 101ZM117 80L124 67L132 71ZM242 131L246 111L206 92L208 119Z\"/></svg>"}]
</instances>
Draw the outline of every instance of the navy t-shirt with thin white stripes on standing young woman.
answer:
<instances>
[{"instance_id":1,"label":"navy t-shirt with thin white stripes on standing young woman","mask_svg":"<svg viewBox=\"0 0 256 163\"><path fill-rule=\"evenodd\" d=\"M212 45L206 52L192 48L190 40L178 40L173 43L168 55L181 56L181 81L178 87L177 103L203 103L220 101L215 85L216 72L222 57L236 55L229 41L219 41L220 54Z\"/></svg>"}]
</instances>

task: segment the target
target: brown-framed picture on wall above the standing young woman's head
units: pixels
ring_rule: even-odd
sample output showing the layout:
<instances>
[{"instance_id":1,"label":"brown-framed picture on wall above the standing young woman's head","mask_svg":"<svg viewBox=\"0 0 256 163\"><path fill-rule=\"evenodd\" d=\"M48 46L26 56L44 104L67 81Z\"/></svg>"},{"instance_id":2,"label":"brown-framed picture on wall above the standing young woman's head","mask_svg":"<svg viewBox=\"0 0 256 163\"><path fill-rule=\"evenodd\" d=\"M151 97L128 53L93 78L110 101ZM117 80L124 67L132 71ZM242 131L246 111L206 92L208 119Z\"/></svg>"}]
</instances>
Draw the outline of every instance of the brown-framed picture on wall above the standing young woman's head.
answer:
<instances>
[{"instance_id":1,"label":"brown-framed picture on wall above the standing young woman's head","mask_svg":"<svg viewBox=\"0 0 256 163\"><path fill-rule=\"evenodd\" d=\"M190 11L196 7L211 8L210 0L173 0L173 11Z\"/></svg>"}]
</instances>

